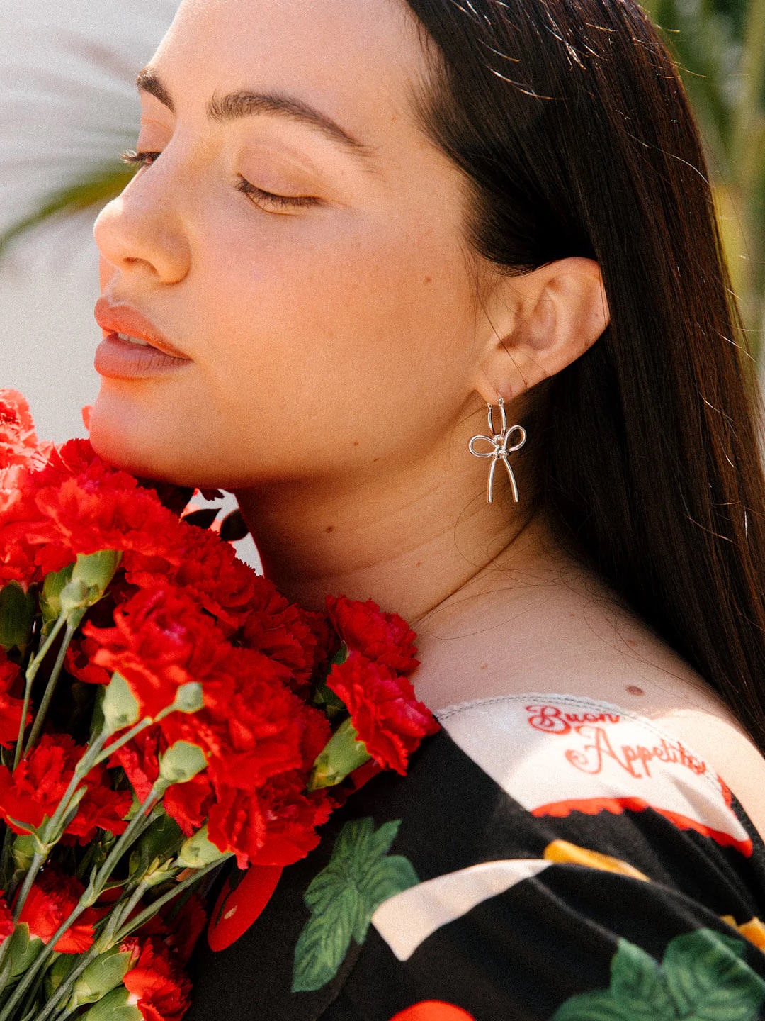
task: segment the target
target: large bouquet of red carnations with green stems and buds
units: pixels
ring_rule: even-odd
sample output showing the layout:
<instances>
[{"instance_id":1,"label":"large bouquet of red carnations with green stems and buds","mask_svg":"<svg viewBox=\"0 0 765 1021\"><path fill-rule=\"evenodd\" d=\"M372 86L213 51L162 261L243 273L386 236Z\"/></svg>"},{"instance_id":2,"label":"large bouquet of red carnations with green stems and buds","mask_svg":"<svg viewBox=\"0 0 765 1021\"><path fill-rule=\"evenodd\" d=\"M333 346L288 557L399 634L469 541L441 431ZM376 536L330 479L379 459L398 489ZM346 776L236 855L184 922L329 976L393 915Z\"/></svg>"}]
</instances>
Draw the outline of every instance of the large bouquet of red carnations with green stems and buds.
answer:
<instances>
[{"instance_id":1,"label":"large bouquet of red carnations with green stems and buds","mask_svg":"<svg viewBox=\"0 0 765 1021\"><path fill-rule=\"evenodd\" d=\"M0 1021L180 1021L194 885L303 858L437 729L400 617L291 603L192 495L0 391Z\"/></svg>"}]
</instances>

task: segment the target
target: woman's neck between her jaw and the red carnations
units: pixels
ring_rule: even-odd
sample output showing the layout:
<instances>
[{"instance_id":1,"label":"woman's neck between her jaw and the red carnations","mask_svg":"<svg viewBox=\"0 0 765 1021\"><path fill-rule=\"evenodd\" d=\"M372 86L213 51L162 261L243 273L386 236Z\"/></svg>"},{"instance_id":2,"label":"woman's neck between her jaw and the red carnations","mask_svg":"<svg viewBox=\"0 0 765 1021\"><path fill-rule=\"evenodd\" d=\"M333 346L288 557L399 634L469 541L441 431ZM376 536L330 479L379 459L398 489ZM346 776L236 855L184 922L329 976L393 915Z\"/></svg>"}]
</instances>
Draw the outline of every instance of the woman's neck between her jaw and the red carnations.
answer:
<instances>
[{"instance_id":1,"label":"woman's neck between her jaw and the red carnations","mask_svg":"<svg viewBox=\"0 0 765 1021\"><path fill-rule=\"evenodd\" d=\"M289 598L312 610L325 595L374 599L415 628L466 586L501 578L500 564L532 562L544 546L544 516L529 507L531 480L518 474L521 502L507 479L486 500L487 461L434 456L348 484L326 478L239 490L263 569ZM499 473L498 473L499 477ZM523 494L526 494L525 500Z\"/></svg>"}]
</instances>

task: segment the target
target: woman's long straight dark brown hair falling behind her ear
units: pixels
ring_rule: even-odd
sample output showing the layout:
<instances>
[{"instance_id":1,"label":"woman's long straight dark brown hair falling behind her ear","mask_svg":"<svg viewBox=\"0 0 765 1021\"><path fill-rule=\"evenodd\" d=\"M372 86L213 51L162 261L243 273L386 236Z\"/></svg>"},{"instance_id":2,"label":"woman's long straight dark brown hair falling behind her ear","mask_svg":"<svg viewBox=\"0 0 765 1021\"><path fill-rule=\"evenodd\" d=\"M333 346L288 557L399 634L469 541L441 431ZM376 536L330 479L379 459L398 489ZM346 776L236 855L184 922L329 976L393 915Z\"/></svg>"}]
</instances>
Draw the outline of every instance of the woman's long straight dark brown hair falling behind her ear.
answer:
<instances>
[{"instance_id":1,"label":"woman's long straight dark brown hair falling behind her ear","mask_svg":"<svg viewBox=\"0 0 765 1021\"><path fill-rule=\"evenodd\" d=\"M760 404L674 61L632 0L407 0L427 110L506 272L596 258L611 325L549 392L561 533L765 751ZM439 52L440 51L440 52Z\"/></svg>"}]
</instances>

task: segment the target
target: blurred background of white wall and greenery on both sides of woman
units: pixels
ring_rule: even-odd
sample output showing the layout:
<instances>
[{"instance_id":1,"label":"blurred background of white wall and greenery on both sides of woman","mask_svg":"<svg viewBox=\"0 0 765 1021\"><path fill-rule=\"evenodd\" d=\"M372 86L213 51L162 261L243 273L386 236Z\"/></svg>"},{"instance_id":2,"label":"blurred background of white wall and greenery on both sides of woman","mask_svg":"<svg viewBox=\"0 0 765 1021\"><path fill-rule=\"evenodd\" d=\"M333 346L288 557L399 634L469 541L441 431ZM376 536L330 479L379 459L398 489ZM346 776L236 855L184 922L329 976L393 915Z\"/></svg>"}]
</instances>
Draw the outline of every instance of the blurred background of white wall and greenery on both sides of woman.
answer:
<instances>
[{"instance_id":1,"label":"blurred background of white wall and greenery on both sides of woman","mask_svg":"<svg viewBox=\"0 0 765 1021\"><path fill-rule=\"evenodd\" d=\"M84 435L98 389L93 221L132 171L136 72L177 0L0 0L0 386L41 436ZM750 345L765 325L765 0L648 0L706 141Z\"/></svg>"}]
</instances>

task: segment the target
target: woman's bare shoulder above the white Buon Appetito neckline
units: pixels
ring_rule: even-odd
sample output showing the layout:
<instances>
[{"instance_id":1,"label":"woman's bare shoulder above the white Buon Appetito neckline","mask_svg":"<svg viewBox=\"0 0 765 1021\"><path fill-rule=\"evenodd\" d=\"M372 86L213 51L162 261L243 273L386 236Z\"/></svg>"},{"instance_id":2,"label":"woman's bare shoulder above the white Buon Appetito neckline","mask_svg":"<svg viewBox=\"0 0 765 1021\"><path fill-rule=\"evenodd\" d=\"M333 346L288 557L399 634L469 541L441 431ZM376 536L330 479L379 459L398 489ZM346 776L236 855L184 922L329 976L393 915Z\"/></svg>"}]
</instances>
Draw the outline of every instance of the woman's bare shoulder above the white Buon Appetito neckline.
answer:
<instances>
[{"instance_id":1,"label":"woman's bare shoulder above the white Buon Appetito neckline","mask_svg":"<svg viewBox=\"0 0 765 1021\"><path fill-rule=\"evenodd\" d=\"M431 708L530 692L620 706L701 756L765 836L765 759L711 685L597 580L495 589L423 639L414 681Z\"/></svg>"}]
</instances>

